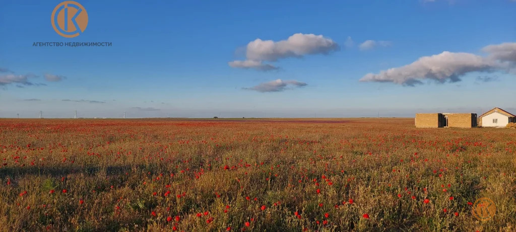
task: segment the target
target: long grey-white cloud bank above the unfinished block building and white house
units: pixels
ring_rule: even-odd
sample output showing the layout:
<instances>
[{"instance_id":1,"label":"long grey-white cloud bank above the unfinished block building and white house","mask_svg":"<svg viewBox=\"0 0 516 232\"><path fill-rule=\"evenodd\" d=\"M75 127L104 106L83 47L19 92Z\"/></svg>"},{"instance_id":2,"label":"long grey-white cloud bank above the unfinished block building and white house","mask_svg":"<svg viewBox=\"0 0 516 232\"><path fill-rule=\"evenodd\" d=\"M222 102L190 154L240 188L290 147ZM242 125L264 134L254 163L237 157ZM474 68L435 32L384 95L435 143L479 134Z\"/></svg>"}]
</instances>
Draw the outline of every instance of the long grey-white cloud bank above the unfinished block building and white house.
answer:
<instances>
[{"instance_id":1,"label":"long grey-white cloud bank above the unfinished block building and white house","mask_svg":"<svg viewBox=\"0 0 516 232\"><path fill-rule=\"evenodd\" d=\"M421 57L399 68L368 73L360 81L393 82L413 86L430 79L438 82L457 82L460 77L471 72L508 72L516 64L516 43L489 45L482 49L487 57L471 53L443 52L438 55Z\"/></svg>"}]
</instances>

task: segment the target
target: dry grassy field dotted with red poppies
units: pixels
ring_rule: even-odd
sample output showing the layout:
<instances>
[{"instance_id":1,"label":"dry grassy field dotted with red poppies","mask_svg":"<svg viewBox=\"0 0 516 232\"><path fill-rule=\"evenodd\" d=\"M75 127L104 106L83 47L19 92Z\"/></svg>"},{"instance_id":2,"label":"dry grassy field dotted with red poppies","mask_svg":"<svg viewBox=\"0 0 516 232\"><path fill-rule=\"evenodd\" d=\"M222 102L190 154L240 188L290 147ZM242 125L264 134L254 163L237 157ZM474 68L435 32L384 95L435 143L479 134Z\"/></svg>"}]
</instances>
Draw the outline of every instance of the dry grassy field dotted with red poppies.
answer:
<instances>
[{"instance_id":1,"label":"dry grassy field dotted with red poppies","mask_svg":"<svg viewBox=\"0 0 516 232\"><path fill-rule=\"evenodd\" d=\"M0 158L2 231L516 230L515 129L3 119Z\"/></svg>"}]
</instances>

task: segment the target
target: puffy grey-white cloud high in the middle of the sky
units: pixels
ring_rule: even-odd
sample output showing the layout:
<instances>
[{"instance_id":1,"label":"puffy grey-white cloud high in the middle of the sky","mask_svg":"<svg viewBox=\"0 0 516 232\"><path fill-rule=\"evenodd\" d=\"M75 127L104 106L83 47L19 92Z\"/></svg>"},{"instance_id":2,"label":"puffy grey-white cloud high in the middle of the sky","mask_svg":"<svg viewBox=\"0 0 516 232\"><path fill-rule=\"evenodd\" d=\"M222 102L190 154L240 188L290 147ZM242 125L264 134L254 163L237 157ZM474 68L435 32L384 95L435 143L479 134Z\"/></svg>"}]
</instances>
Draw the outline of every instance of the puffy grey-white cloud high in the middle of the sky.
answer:
<instances>
[{"instance_id":1,"label":"puffy grey-white cloud high in the middle of the sky","mask_svg":"<svg viewBox=\"0 0 516 232\"><path fill-rule=\"evenodd\" d=\"M263 61L274 62L290 57L301 58L305 55L329 54L338 49L340 47L335 41L314 34L298 33L281 41L255 39L246 46L247 60L232 61L229 62L229 65L232 68L273 70L277 67L264 64Z\"/></svg>"}]
</instances>

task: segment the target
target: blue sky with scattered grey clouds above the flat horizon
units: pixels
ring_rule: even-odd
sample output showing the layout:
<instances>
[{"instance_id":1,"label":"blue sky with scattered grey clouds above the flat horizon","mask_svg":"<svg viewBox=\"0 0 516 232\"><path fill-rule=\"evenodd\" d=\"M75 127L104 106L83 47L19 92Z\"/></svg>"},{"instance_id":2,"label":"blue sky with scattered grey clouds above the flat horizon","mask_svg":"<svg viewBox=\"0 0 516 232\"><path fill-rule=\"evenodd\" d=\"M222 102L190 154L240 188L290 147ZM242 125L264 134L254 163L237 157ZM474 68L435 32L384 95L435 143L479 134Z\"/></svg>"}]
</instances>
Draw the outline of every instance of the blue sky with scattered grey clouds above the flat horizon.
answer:
<instances>
[{"instance_id":1,"label":"blue sky with scattered grey clouds above the flat horizon","mask_svg":"<svg viewBox=\"0 0 516 232\"><path fill-rule=\"evenodd\" d=\"M505 56L516 42L510 0L77 1L89 22L75 38L52 28L60 2L3 1L0 117L36 118L40 110L47 118L70 118L74 110L113 118L123 111L127 117L516 111L516 60ZM288 40L296 34L300 40ZM256 39L273 47L252 50ZM399 69L444 51L451 55ZM235 60L277 69L231 67ZM398 69L382 74L391 68Z\"/></svg>"}]
</instances>

